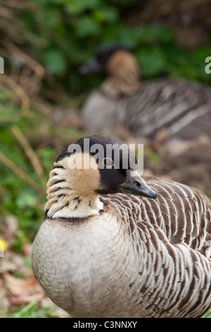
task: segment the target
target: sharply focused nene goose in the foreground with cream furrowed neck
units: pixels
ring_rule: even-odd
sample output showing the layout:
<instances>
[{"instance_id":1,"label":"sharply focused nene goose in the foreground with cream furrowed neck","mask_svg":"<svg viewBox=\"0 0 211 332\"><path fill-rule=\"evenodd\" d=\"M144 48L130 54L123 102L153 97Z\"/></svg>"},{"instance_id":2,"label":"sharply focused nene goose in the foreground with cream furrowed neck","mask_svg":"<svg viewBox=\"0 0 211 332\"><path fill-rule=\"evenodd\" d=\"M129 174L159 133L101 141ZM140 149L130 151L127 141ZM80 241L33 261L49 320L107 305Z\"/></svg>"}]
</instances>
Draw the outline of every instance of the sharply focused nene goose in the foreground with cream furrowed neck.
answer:
<instances>
[{"instance_id":1,"label":"sharply focused nene goose in the foreground with cream furrowed neck","mask_svg":"<svg viewBox=\"0 0 211 332\"><path fill-rule=\"evenodd\" d=\"M105 153L114 147L113 157L96 158L80 138L82 152L65 150L54 163L32 248L41 287L72 317L202 316L211 304L211 201L184 184L146 184L136 164L122 167L128 148L88 138Z\"/></svg>"}]
</instances>

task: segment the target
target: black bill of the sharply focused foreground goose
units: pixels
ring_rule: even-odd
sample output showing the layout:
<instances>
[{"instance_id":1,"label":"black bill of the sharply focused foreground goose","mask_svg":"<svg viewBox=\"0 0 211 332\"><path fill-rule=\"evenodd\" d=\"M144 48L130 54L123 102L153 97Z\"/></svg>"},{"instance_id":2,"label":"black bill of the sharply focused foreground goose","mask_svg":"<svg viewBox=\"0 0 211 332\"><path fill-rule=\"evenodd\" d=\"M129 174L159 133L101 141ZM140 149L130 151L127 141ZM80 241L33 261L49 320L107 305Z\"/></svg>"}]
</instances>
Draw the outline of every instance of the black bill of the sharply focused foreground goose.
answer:
<instances>
[{"instance_id":1,"label":"black bill of the sharply focused foreground goose","mask_svg":"<svg viewBox=\"0 0 211 332\"><path fill-rule=\"evenodd\" d=\"M129 194L157 198L157 193L146 184L146 181L140 177L138 172L127 171L127 181L120 184L120 186L123 191Z\"/></svg>"}]
</instances>

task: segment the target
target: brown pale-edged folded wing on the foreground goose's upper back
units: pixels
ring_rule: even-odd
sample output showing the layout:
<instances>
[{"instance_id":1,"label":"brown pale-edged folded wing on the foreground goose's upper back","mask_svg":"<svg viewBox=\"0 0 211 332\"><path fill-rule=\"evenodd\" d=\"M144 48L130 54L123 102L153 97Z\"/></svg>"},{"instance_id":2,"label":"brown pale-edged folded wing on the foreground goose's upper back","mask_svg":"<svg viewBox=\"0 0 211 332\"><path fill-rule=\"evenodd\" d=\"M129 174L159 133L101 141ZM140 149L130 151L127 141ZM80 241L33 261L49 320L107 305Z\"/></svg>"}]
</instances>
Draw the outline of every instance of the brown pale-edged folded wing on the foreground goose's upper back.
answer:
<instances>
[{"instance_id":1,"label":"brown pale-edged folded wing on the foreground goose's upper back","mask_svg":"<svg viewBox=\"0 0 211 332\"><path fill-rule=\"evenodd\" d=\"M131 194L102 196L104 203L118 205L122 217L134 223L151 223L162 230L171 244L186 243L204 253L211 239L211 201L197 189L177 182L152 179L148 182L157 191L153 200Z\"/></svg>"}]
</instances>

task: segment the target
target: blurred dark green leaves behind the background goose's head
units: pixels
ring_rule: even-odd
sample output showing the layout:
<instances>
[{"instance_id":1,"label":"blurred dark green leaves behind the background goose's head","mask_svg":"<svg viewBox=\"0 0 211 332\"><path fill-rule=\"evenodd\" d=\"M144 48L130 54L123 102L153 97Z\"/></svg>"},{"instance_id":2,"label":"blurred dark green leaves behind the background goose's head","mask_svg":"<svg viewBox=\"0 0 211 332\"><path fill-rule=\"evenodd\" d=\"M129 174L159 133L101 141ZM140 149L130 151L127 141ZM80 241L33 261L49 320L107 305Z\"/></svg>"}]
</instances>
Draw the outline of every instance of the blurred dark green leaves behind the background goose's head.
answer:
<instances>
[{"instance_id":1,"label":"blurred dark green leaves behind the background goose's head","mask_svg":"<svg viewBox=\"0 0 211 332\"><path fill-rule=\"evenodd\" d=\"M98 78L79 77L77 68L98 45L118 42L136 54L143 81L160 76L184 77L210 84L205 57L211 45L193 50L177 45L174 33L163 25L132 26L127 8L137 1L49 0L31 1L37 8L21 13L25 34L34 40L33 52L49 73L65 86L70 96L91 90ZM123 13L123 14L122 14ZM38 47L39 45L39 47Z\"/></svg>"}]
</instances>

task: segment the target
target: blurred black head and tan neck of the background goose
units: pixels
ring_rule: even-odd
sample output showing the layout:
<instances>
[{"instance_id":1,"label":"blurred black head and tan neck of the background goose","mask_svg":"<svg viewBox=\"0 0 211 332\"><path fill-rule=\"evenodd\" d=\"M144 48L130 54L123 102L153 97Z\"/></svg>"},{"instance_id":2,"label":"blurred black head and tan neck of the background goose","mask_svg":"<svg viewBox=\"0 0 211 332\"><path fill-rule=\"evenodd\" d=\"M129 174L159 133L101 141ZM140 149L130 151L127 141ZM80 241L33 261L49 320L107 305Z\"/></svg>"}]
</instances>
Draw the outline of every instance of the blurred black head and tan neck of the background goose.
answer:
<instances>
[{"instance_id":1,"label":"blurred black head and tan neck of the background goose","mask_svg":"<svg viewBox=\"0 0 211 332\"><path fill-rule=\"evenodd\" d=\"M106 73L103 90L113 95L127 95L139 90L141 70L134 55L121 45L99 47L95 57L79 68L79 73Z\"/></svg>"}]
</instances>

